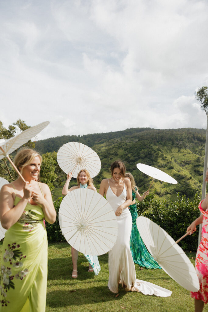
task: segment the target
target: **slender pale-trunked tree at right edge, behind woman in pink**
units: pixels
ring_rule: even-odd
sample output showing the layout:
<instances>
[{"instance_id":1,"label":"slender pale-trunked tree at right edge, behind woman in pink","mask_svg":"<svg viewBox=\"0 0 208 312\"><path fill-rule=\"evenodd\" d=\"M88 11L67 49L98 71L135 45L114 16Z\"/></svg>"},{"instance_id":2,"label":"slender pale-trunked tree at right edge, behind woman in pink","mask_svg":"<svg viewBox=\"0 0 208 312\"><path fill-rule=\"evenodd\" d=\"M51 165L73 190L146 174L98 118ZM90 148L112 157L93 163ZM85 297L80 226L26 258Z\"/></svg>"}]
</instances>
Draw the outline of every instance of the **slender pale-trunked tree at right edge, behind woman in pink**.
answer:
<instances>
[{"instance_id":1,"label":"slender pale-trunked tree at right edge, behind woman in pink","mask_svg":"<svg viewBox=\"0 0 208 312\"><path fill-rule=\"evenodd\" d=\"M203 173L203 183L202 183L202 192L201 192L201 199L205 199L206 196L206 170L208 166L208 87L201 87L198 88L197 91L194 93L196 100L201 103L201 108L206 112L206 143L205 143L205 154L204 154L204 173ZM198 238L198 245L201 241L201 224L199 226L199 238Z\"/></svg>"}]
</instances>

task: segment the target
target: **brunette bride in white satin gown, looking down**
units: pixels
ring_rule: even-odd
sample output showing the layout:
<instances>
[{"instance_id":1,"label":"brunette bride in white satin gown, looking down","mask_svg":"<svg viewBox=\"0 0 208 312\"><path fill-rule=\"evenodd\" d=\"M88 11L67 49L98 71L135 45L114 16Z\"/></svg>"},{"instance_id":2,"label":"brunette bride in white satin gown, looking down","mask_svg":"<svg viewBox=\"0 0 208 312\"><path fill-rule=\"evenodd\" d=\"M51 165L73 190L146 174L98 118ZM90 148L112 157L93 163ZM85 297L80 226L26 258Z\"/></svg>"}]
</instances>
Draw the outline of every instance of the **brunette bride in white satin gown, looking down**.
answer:
<instances>
[{"instance_id":1,"label":"brunette bride in white satin gown, looking down","mask_svg":"<svg viewBox=\"0 0 208 312\"><path fill-rule=\"evenodd\" d=\"M112 178L102 180L99 190L102 196L106 195L118 222L118 237L114 247L109 251L109 290L118 293L121 283L126 291L141 291L145 295L168 297L172 291L136 279L129 243L132 217L128 206L132 203L132 188L130 180L125 178L125 170L125 165L121 161L112 163Z\"/></svg>"}]
</instances>

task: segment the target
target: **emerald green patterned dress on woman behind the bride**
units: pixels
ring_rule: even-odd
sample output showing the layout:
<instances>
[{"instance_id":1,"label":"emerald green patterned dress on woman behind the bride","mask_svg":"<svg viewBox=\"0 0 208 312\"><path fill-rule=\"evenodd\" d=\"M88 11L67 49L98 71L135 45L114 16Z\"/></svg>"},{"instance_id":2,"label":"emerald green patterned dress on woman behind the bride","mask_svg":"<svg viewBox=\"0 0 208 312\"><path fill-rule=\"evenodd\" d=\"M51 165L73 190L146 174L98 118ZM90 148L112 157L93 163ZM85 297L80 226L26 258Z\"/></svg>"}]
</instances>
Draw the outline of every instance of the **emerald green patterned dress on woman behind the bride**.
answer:
<instances>
[{"instance_id":1,"label":"emerald green patterned dress on woman behind the bride","mask_svg":"<svg viewBox=\"0 0 208 312\"><path fill-rule=\"evenodd\" d=\"M137 191L137 189L135 190ZM132 201L136 198L136 192L132 191ZM130 250L133 258L133 262L140 266L144 266L147 269L161 269L158 263L149 254L142 237L139 234L137 228L137 205L133 204L129 206L129 210L132 215L132 232L130 237Z\"/></svg>"}]
</instances>

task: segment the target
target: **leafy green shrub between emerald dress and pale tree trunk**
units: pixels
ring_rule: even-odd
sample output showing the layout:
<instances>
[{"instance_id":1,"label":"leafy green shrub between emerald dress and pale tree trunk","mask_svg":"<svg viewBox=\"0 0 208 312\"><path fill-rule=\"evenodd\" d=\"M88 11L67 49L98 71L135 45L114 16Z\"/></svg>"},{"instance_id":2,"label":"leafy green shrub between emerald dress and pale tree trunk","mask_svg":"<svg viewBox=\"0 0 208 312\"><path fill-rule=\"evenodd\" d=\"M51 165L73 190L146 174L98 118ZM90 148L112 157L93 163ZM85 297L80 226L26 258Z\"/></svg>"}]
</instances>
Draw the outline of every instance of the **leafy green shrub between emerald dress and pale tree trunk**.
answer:
<instances>
[{"instance_id":1,"label":"leafy green shrub between emerald dress and pale tree trunk","mask_svg":"<svg viewBox=\"0 0 208 312\"><path fill-rule=\"evenodd\" d=\"M138 205L138 215L143 215L162 227L175 241L186 234L187 227L200 216L198 193L190 200L185 195L177 193L176 201L161 201L154 199L154 192ZM144 212L148 207L148 211ZM189 251L195 251L198 244L197 231L186 236L179 245Z\"/></svg>"}]
</instances>

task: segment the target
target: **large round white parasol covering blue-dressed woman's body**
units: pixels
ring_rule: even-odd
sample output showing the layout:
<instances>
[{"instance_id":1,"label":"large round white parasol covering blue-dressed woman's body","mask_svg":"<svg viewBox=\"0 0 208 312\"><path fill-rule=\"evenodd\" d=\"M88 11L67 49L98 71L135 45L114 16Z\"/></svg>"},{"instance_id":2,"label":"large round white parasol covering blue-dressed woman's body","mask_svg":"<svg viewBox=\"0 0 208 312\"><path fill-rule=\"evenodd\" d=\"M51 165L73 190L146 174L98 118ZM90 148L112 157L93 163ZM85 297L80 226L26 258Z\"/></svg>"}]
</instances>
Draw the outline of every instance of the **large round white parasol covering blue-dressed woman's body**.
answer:
<instances>
[{"instance_id":1,"label":"large round white parasol covering blue-dressed woman's body","mask_svg":"<svg viewBox=\"0 0 208 312\"><path fill-rule=\"evenodd\" d=\"M64 197L59 224L66 241L87 255L103 255L117 239L118 225L112 207L90 189L77 188Z\"/></svg>"}]
</instances>

